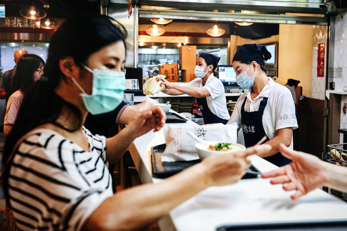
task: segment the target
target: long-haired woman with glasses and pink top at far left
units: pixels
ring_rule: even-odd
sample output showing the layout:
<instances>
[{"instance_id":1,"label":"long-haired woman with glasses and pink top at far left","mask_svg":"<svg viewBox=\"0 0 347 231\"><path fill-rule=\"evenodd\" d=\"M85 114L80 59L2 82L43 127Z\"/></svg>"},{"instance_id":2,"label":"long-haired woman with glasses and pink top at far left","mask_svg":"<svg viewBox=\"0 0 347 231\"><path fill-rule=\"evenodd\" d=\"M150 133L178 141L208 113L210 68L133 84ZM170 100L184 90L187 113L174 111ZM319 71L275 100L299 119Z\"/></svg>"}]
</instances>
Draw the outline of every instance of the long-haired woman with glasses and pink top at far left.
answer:
<instances>
[{"instance_id":1,"label":"long-haired woman with glasses and pink top at far left","mask_svg":"<svg viewBox=\"0 0 347 231\"><path fill-rule=\"evenodd\" d=\"M18 110L26 92L39 80L46 63L35 54L24 54L17 62L10 88L6 92L6 113L3 132L7 136L15 124Z\"/></svg>"}]
</instances>

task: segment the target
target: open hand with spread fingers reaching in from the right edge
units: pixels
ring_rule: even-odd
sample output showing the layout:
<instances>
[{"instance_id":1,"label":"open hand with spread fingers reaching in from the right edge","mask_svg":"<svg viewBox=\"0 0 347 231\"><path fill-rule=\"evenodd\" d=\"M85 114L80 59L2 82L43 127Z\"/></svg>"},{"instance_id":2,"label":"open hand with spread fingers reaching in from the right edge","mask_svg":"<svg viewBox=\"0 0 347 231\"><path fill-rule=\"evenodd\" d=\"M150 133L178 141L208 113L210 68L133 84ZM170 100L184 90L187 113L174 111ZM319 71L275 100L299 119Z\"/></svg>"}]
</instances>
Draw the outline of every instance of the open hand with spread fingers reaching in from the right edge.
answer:
<instances>
[{"instance_id":1,"label":"open hand with spread fingers reaching in from the right edge","mask_svg":"<svg viewBox=\"0 0 347 231\"><path fill-rule=\"evenodd\" d=\"M293 151L280 144L283 156L293 160L279 169L265 172L262 178L273 177L271 184L283 184L286 191L296 190L291 199L297 199L313 189L327 183L328 179L323 165L326 164L318 157L304 152Z\"/></svg>"}]
</instances>

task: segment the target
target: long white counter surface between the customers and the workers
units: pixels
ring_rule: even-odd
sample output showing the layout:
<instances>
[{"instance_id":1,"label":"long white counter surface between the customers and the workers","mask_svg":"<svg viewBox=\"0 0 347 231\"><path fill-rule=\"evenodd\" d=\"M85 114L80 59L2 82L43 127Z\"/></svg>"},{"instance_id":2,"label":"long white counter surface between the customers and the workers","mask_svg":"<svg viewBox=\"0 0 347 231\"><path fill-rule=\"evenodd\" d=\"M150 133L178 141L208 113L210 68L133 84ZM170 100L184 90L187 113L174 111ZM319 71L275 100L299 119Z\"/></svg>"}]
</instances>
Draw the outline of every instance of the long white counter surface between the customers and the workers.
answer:
<instances>
[{"instance_id":1,"label":"long white counter surface between the customers and the workers","mask_svg":"<svg viewBox=\"0 0 347 231\"><path fill-rule=\"evenodd\" d=\"M143 183L161 181L151 175L150 148L162 143L165 143L163 131L151 131L135 139L129 147ZM255 155L250 160L262 172L277 168ZM293 193L285 192L281 185L271 185L269 179L240 180L234 185L205 189L176 207L169 216L175 227L168 217L158 223L165 231L213 231L230 224L347 220L347 203L339 198L315 189L292 201Z\"/></svg>"}]
</instances>

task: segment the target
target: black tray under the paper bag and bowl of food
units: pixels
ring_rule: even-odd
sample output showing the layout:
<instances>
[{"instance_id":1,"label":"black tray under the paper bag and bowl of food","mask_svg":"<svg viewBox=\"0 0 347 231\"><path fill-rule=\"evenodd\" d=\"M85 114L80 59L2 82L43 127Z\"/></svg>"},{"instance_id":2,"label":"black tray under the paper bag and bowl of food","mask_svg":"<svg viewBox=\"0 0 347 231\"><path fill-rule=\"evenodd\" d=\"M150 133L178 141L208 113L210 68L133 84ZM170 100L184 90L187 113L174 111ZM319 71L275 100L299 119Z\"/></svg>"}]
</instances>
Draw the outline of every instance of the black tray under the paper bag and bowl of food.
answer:
<instances>
[{"instance_id":1,"label":"black tray under the paper bag and bowl of food","mask_svg":"<svg viewBox=\"0 0 347 231\"><path fill-rule=\"evenodd\" d=\"M160 144L151 148L152 175L155 177L166 178L200 162L200 159L191 161L162 162L161 155L165 148L166 144ZM259 174L261 174L261 172L252 165L247 169L246 174L242 179L256 178Z\"/></svg>"}]
</instances>

